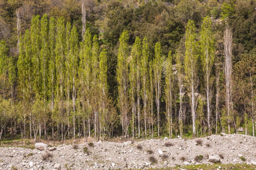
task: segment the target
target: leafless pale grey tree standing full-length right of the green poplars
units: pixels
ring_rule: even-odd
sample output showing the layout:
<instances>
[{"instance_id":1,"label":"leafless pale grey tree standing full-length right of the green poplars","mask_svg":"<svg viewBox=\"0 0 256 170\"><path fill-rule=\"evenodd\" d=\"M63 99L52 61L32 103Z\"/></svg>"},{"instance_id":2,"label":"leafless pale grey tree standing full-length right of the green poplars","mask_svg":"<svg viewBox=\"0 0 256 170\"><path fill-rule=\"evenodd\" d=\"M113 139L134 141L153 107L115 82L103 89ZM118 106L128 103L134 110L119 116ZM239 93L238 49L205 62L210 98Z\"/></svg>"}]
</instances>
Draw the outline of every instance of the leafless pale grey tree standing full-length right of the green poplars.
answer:
<instances>
[{"instance_id":1,"label":"leafless pale grey tree standing full-length right of the green poplars","mask_svg":"<svg viewBox=\"0 0 256 170\"><path fill-rule=\"evenodd\" d=\"M226 107L228 116L228 134L230 134L230 113L232 110L232 31L226 25L224 32L224 53L225 53L225 80L226 80Z\"/></svg>"}]
</instances>

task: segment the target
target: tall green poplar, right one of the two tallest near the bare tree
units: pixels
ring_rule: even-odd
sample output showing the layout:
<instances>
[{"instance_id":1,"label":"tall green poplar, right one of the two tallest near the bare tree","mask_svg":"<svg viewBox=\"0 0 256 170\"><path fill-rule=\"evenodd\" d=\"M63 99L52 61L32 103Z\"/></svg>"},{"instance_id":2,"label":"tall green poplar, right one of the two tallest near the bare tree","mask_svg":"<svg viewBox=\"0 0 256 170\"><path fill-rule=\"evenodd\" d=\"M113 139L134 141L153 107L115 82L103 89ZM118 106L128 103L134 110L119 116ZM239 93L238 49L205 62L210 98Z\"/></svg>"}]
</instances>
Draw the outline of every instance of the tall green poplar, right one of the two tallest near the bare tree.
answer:
<instances>
[{"instance_id":1,"label":"tall green poplar, right one of the two tallest near the bare tree","mask_svg":"<svg viewBox=\"0 0 256 170\"><path fill-rule=\"evenodd\" d=\"M202 65L204 70L204 78L205 78L205 91L206 91L206 100L207 100L207 124L208 124L208 133L211 134L211 124L210 124L210 116L211 116L211 98L212 98L212 81L211 78L211 70L214 63L214 45L213 45L213 35L211 31L211 18L205 17L202 27L201 27L201 49L202 49Z\"/></svg>"}]
</instances>

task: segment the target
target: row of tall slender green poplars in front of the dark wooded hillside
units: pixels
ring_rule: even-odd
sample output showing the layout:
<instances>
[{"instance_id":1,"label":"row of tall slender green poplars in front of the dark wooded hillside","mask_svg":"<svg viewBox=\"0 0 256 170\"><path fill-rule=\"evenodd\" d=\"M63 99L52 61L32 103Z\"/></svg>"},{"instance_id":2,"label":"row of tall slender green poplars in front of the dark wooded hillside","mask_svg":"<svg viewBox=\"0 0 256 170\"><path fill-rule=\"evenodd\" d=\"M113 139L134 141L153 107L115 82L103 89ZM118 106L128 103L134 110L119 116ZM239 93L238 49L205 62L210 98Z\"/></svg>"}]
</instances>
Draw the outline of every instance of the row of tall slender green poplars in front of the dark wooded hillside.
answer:
<instances>
[{"instance_id":1,"label":"row of tall slender green poplars in front of the dark wooded hillside","mask_svg":"<svg viewBox=\"0 0 256 170\"><path fill-rule=\"evenodd\" d=\"M76 27L63 18L33 17L30 29L18 43L19 59L8 57L6 44L3 41L0 44L0 141L6 127L10 127L12 135L19 132L21 138L34 136L35 141L38 136L63 141L92 136L92 132L99 139L113 136L114 132L118 134L120 127L126 138L159 137L165 131L172 138L173 128L176 135L179 132L182 136L190 114L193 136L202 134L203 128L209 134L212 129L217 133L219 124L222 131L226 126L228 132L230 126L237 131L239 120L232 103L230 27L226 25L223 38L226 106L221 114L221 64L214 57L211 18L204 18L199 35L194 22L189 20L185 39L183 55L169 52L165 57L158 42L152 57L147 38L137 37L130 49L129 34L124 31L119 39L116 65L118 97L113 99L108 92L108 53L99 46L97 36L92 37L87 30L79 41ZM255 55L245 59L241 62L246 64L250 60L248 66L237 69L247 78L250 74L253 120ZM198 90L198 74L204 78L204 94ZM215 113L213 85L216 85ZM248 115L244 120L247 124Z\"/></svg>"}]
</instances>

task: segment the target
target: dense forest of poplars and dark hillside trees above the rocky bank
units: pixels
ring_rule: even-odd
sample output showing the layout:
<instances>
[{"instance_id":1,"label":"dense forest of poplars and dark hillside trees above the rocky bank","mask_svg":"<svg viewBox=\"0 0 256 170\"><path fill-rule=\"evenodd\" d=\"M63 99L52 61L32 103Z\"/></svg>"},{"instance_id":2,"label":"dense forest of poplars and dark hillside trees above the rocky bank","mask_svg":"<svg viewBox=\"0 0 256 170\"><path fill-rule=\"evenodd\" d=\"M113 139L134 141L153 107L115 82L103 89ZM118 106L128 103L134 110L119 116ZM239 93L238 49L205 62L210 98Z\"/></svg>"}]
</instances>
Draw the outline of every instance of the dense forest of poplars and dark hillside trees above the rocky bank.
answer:
<instances>
[{"instance_id":1,"label":"dense forest of poplars and dark hillside trees above the rocky bank","mask_svg":"<svg viewBox=\"0 0 256 170\"><path fill-rule=\"evenodd\" d=\"M0 141L255 135L255 0L0 0L0 13Z\"/></svg>"}]
</instances>

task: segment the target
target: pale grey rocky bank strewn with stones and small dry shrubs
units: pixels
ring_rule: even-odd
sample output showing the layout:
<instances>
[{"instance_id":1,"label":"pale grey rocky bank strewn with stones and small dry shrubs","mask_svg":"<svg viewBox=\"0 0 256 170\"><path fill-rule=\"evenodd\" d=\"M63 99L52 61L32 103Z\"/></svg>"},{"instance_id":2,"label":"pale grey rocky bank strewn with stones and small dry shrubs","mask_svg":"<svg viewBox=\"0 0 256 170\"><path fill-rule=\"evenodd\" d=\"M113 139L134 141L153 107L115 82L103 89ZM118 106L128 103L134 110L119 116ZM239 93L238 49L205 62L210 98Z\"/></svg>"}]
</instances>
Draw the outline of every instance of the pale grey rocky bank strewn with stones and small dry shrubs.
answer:
<instances>
[{"instance_id":1,"label":"pale grey rocky bank strewn with stones and small dry shrubs","mask_svg":"<svg viewBox=\"0 0 256 170\"><path fill-rule=\"evenodd\" d=\"M37 143L36 148L0 148L0 169L143 169L212 162L256 164L256 138L241 134L60 146Z\"/></svg>"}]
</instances>

